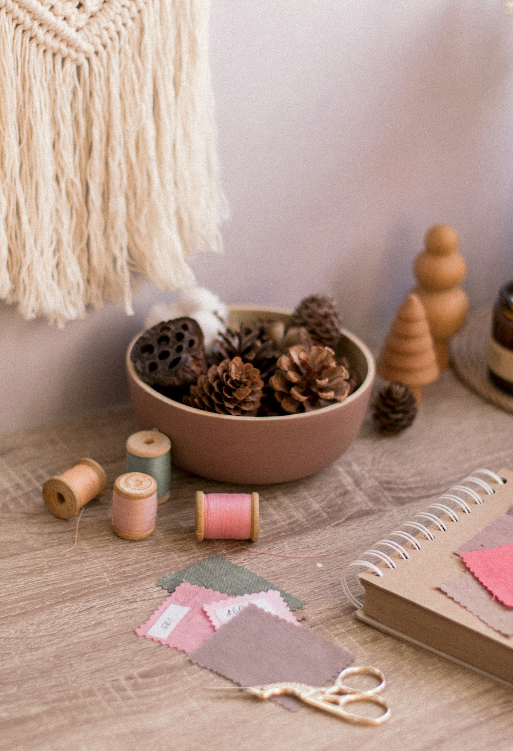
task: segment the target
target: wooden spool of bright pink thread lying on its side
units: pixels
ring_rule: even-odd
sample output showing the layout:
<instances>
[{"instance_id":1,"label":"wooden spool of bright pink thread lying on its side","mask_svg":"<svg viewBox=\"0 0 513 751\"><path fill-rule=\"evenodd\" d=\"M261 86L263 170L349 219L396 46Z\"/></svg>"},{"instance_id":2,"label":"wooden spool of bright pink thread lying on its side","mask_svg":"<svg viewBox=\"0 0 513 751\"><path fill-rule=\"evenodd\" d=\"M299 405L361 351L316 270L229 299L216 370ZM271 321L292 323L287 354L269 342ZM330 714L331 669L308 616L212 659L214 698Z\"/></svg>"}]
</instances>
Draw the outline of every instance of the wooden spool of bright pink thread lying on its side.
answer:
<instances>
[{"instance_id":1,"label":"wooden spool of bright pink thread lying on its side","mask_svg":"<svg viewBox=\"0 0 513 751\"><path fill-rule=\"evenodd\" d=\"M258 493L196 493L196 540L258 539Z\"/></svg>"}]
</instances>

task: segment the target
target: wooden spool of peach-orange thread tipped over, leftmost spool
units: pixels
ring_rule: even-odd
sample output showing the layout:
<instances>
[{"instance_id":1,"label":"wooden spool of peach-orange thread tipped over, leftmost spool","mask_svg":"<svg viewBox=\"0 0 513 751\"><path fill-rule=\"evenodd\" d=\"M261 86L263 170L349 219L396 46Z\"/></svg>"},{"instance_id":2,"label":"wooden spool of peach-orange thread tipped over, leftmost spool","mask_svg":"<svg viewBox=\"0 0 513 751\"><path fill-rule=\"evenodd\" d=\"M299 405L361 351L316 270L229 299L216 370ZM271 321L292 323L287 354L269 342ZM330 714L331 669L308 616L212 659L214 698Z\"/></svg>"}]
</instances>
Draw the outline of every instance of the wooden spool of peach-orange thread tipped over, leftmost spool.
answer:
<instances>
[{"instance_id":1,"label":"wooden spool of peach-orange thread tipped over, leftmost spool","mask_svg":"<svg viewBox=\"0 0 513 751\"><path fill-rule=\"evenodd\" d=\"M81 508L107 490L107 475L94 459L78 459L62 475L51 477L43 485L46 508L60 519L70 519Z\"/></svg>"}]
</instances>

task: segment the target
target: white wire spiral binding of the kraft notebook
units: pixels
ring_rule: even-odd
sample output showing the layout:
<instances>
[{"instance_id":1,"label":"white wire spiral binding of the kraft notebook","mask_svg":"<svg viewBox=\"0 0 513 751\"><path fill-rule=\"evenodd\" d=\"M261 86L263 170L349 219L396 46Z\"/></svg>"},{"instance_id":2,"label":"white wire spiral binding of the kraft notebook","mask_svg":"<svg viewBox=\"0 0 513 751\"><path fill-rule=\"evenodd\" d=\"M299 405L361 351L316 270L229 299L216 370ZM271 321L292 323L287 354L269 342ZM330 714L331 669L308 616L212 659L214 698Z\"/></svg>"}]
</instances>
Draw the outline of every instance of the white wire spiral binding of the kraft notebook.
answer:
<instances>
[{"instance_id":1,"label":"white wire spiral binding of the kraft notebook","mask_svg":"<svg viewBox=\"0 0 513 751\"><path fill-rule=\"evenodd\" d=\"M365 553L362 554L362 558L350 562L342 575L342 586L344 587L344 593L346 593L347 599L349 599L356 608L362 607L363 596L365 596L365 590L359 581L359 574L364 571L370 571L377 576L383 576L383 571L377 563L382 563L389 569L395 569L397 562L391 557L391 555L389 555L389 553L397 553L398 556L405 561L410 559L410 553L406 550L404 544L399 543L393 538L399 538L401 541L404 541L405 544L409 543L413 550L422 550L422 544L419 542L418 538L416 538L415 535L410 534L410 532L407 532L407 529L414 529L417 534L422 535L426 540L433 541L435 535L431 529L429 529L429 526L436 526L440 532L447 531L447 524L441 516L448 517L450 521L458 522L460 517L458 517L454 508L463 511L463 514L471 513L472 508L470 508L466 500L458 496L458 493L464 493L467 498L472 499L472 501L478 505L483 502L481 496L472 487L468 487L469 483L475 484L481 490L484 490L484 493L486 493L487 496L492 496L493 493L495 493L495 490L490 487L490 484L487 481L484 481L482 478L476 477L475 475L486 475L487 478L490 478L493 482L496 482L499 485L503 485L505 482L499 477L499 475L496 475L496 473L492 472L490 469L475 469L475 472L472 472L472 475L463 478L459 484L453 485L446 493L443 493L443 495L437 499L437 502L431 503L425 511L415 514L412 520L407 521L403 525L403 529L395 529L394 532L389 534L388 538L378 540L374 547L365 550ZM442 501L444 502L442 503ZM434 513L431 509L434 509L434 511L438 513ZM417 519L422 519L425 523L416 521ZM377 561L377 563L373 562L373 560ZM356 590L356 593L354 593L353 590Z\"/></svg>"}]
</instances>

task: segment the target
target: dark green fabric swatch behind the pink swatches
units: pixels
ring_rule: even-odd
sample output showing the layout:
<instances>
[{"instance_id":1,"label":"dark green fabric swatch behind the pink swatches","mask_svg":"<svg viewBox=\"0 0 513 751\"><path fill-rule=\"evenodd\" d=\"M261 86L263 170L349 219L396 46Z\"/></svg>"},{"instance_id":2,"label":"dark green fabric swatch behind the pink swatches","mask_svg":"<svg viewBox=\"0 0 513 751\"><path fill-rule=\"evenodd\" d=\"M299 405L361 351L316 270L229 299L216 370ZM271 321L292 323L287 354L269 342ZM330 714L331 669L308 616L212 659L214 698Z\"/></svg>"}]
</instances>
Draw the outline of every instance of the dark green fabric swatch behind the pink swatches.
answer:
<instances>
[{"instance_id":1,"label":"dark green fabric swatch behind the pink swatches","mask_svg":"<svg viewBox=\"0 0 513 751\"><path fill-rule=\"evenodd\" d=\"M184 580L198 587L219 590L225 595L252 595L267 590L278 590L290 610L295 611L305 605L299 598L276 587L272 581L263 579L249 569L245 569L244 566L232 563L224 556L211 556L193 563L185 569L160 578L157 584L164 590L174 592L178 584Z\"/></svg>"}]
</instances>

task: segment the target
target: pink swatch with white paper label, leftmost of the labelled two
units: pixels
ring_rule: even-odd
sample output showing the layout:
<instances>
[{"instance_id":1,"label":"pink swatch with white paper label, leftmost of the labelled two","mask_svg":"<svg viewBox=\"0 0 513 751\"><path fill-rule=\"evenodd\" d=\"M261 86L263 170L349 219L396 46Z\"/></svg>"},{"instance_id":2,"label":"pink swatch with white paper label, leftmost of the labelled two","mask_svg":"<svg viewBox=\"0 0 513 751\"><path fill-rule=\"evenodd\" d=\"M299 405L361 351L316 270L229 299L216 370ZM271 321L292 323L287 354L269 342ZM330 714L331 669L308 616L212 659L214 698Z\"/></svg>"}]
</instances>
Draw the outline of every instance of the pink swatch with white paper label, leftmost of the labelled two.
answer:
<instances>
[{"instance_id":1,"label":"pink swatch with white paper label, leftmost of the labelled two","mask_svg":"<svg viewBox=\"0 0 513 751\"><path fill-rule=\"evenodd\" d=\"M160 641L168 647L175 647L189 653L200 647L214 633L207 614L203 610L205 602L218 602L226 598L220 592L196 587L184 581L164 600L160 608L136 629L138 636Z\"/></svg>"}]
</instances>

